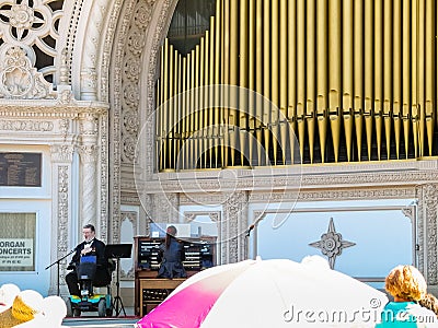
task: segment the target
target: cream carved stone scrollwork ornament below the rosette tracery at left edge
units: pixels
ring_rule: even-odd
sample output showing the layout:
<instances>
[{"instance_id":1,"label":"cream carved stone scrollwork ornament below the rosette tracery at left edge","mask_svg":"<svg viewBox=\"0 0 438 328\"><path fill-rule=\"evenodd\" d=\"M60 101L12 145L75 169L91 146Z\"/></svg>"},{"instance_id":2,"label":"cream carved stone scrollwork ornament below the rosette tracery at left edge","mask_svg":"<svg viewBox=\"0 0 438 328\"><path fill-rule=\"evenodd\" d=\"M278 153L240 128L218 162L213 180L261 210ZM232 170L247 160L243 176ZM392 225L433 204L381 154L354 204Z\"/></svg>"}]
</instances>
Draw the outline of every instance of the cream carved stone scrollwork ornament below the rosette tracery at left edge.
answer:
<instances>
[{"instance_id":1,"label":"cream carved stone scrollwork ornament below the rosette tracery at left edge","mask_svg":"<svg viewBox=\"0 0 438 328\"><path fill-rule=\"evenodd\" d=\"M32 67L26 52L18 47L5 47L0 62L0 96L4 98L54 98L51 84Z\"/></svg>"}]
</instances>

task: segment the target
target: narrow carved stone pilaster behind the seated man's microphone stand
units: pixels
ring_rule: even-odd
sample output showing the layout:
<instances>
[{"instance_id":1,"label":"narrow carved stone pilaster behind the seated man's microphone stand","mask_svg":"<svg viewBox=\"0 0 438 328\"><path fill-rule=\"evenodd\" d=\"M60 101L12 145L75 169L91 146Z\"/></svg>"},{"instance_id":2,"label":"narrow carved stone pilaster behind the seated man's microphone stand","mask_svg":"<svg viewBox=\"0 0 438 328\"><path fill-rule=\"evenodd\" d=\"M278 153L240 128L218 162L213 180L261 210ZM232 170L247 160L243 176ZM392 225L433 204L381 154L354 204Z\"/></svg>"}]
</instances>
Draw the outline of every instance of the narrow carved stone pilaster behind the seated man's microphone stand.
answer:
<instances>
[{"instance_id":1,"label":"narrow carved stone pilaster behind the seated man's microphone stand","mask_svg":"<svg viewBox=\"0 0 438 328\"><path fill-rule=\"evenodd\" d=\"M51 152L51 231L53 236L50 243L56 245L50 249L50 263L57 259L66 256L69 250L73 247L71 243L72 232L71 227L72 220L72 159L73 159L73 145L53 145ZM61 294L67 293L66 285L66 268L68 258L64 259L59 263L59 278L57 265L50 268L50 288L49 294L57 294L58 279Z\"/></svg>"}]
</instances>

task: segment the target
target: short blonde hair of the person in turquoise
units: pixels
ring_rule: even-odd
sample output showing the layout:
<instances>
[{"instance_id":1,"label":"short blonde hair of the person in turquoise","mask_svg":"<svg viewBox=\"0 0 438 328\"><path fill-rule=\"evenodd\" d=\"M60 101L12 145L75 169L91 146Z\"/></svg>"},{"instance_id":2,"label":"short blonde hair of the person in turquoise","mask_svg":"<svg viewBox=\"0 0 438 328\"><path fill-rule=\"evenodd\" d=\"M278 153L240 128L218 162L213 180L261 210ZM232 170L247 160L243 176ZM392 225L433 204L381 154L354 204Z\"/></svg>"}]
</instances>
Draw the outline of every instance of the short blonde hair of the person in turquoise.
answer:
<instances>
[{"instance_id":1,"label":"short blonde hair of the person in turquoise","mask_svg":"<svg viewBox=\"0 0 438 328\"><path fill-rule=\"evenodd\" d=\"M397 266L388 274L384 288L394 297L419 301L426 294L427 284L415 267Z\"/></svg>"}]
</instances>

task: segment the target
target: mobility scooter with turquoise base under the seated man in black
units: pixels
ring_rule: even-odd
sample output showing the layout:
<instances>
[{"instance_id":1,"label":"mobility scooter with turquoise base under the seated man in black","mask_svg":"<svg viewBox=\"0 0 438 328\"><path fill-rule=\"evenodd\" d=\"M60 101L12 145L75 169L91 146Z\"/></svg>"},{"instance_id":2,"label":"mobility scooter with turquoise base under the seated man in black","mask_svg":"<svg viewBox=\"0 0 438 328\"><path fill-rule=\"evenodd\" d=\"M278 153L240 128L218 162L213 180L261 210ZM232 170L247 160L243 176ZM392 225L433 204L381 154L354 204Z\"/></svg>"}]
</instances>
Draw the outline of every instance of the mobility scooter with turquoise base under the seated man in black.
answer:
<instances>
[{"instance_id":1,"label":"mobility scooter with turquoise base under the seated man in black","mask_svg":"<svg viewBox=\"0 0 438 328\"><path fill-rule=\"evenodd\" d=\"M96 281L96 257L83 256L77 268L70 265L67 269L76 269L81 296L70 295L67 301L67 316L79 317L82 312L97 312L100 317L111 317L113 315L113 300L111 294L111 277L115 269L114 262L108 259L107 280ZM95 294L94 288L106 286L106 294Z\"/></svg>"}]
</instances>

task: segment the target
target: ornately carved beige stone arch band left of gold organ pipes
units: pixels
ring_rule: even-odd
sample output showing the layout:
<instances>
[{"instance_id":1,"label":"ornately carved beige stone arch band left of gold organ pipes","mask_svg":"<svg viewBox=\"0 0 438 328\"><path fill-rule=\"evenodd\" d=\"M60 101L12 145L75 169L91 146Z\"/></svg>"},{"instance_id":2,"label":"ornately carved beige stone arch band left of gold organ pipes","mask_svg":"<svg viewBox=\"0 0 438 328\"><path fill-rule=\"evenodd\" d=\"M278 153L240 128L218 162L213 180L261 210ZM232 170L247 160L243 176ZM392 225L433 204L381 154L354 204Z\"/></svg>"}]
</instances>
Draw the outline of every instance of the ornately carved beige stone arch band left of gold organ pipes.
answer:
<instances>
[{"instance_id":1,"label":"ornately carved beige stone arch band left of gold organ pipes","mask_svg":"<svg viewBox=\"0 0 438 328\"><path fill-rule=\"evenodd\" d=\"M145 150L135 154L141 128L154 108L154 79L159 49L165 38L177 0L114 1L113 16L117 16L110 65L110 235L119 230L122 194L136 191L134 165L140 163L146 174L153 173L153 126L149 122ZM119 11L119 14L116 12ZM111 25L111 24L110 24ZM110 35L108 35L110 37ZM105 39L104 49L110 42ZM106 52L103 51L106 56ZM103 79L105 80L105 79ZM102 83L106 83L103 81ZM104 87L104 84L102 84ZM101 90L104 95L105 90ZM127 174L122 186L122 171ZM129 172L130 171L130 172ZM117 236L115 236L117 237Z\"/></svg>"}]
</instances>

